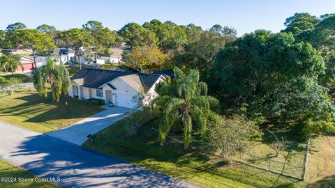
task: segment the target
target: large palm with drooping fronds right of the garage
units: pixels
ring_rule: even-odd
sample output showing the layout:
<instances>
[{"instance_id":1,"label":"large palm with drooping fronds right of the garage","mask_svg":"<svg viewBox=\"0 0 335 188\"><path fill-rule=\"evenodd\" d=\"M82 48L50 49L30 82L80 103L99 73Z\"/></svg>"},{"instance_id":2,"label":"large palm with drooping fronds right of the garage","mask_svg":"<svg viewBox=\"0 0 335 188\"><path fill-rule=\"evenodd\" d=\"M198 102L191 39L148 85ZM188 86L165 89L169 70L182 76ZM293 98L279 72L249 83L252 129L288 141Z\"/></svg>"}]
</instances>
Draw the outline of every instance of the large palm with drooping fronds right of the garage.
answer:
<instances>
[{"instance_id":1,"label":"large palm with drooping fronds right of the garage","mask_svg":"<svg viewBox=\"0 0 335 188\"><path fill-rule=\"evenodd\" d=\"M207 120L213 113L210 107L218 105L216 98L207 95L207 84L199 81L199 71L189 70L186 74L174 68L175 79L163 82L157 88L157 107L163 107L163 118L159 124L161 145L177 121L184 126L184 148L192 142L193 122L198 125L201 135L206 132Z\"/></svg>"}]
</instances>

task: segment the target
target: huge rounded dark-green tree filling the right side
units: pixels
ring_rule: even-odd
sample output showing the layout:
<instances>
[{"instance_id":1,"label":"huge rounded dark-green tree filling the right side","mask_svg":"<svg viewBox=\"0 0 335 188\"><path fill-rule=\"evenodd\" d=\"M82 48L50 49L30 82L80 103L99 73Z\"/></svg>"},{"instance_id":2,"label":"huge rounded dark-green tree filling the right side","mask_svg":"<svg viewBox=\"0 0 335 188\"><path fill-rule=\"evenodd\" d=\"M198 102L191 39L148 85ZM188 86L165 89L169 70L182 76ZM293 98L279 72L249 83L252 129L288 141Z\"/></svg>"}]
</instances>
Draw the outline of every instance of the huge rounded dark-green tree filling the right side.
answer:
<instances>
[{"instance_id":1,"label":"huge rounded dark-green tree filling the right side","mask_svg":"<svg viewBox=\"0 0 335 188\"><path fill-rule=\"evenodd\" d=\"M323 74L325 63L311 44L260 30L218 52L209 83L221 100L239 99L250 113L301 123L334 113L327 88L318 84Z\"/></svg>"}]
</instances>

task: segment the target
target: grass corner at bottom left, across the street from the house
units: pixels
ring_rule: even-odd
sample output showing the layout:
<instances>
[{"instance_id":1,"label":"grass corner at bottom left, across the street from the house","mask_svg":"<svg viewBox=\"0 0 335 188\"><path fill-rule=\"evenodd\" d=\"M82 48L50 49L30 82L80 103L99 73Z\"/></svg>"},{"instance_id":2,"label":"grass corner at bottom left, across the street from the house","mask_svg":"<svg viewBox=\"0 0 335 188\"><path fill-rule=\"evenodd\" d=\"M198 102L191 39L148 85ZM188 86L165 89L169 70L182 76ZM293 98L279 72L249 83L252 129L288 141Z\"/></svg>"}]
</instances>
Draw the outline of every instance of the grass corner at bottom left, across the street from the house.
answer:
<instances>
[{"instance_id":1,"label":"grass corner at bottom left, across the street from the house","mask_svg":"<svg viewBox=\"0 0 335 188\"><path fill-rule=\"evenodd\" d=\"M49 182L19 182L18 178L36 178L36 176L32 175L31 173L24 171L16 166L9 164L0 159L0 178L17 178L16 182L3 182L0 181L0 187L3 188L47 188L47 187L57 187Z\"/></svg>"}]
</instances>

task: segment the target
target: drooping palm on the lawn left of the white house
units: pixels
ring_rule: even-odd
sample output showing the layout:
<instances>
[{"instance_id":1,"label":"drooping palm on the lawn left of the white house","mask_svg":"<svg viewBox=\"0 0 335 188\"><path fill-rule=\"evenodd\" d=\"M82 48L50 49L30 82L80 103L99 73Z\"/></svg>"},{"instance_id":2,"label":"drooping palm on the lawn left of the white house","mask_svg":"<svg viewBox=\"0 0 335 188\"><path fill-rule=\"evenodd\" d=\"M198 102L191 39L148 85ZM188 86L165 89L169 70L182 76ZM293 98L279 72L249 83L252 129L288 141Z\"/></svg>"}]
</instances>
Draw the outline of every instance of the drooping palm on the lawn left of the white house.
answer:
<instances>
[{"instance_id":1,"label":"drooping palm on the lawn left of the white house","mask_svg":"<svg viewBox=\"0 0 335 188\"><path fill-rule=\"evenodd\" d=\"M47 97L47 86L51 88L53 102L59 101L61 93L66 95L70 86L68 70L64 65L56 65L49 56L47 56L47 65L34 69L34 87L38 94Z\"/></svg>"}]
</instances>

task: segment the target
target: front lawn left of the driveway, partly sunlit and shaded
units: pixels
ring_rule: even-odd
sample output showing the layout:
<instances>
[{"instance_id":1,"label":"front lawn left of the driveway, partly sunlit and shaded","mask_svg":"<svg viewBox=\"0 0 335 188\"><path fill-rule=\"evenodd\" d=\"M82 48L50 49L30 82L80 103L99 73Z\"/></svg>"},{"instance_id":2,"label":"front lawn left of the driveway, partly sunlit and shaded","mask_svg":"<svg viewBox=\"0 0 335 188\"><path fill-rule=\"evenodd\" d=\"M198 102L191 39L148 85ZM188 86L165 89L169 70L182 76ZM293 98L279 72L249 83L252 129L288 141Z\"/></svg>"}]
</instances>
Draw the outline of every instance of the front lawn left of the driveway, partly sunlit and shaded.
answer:
<instances>
[{"instance_id":1,"label":"front lawn left of the driveway, partly sunlit and shaded","mask_svg":"<svg viewBox=\"0 0 335 188\"><path fill-rule=\"evenodd\" d=\"M36 91L0 95L0 120L40 133L67 127L99 111L103 109L96 102L61 97L59 102L52 103L51 95L45 98Z\"/></svg>"}]
</instances>

